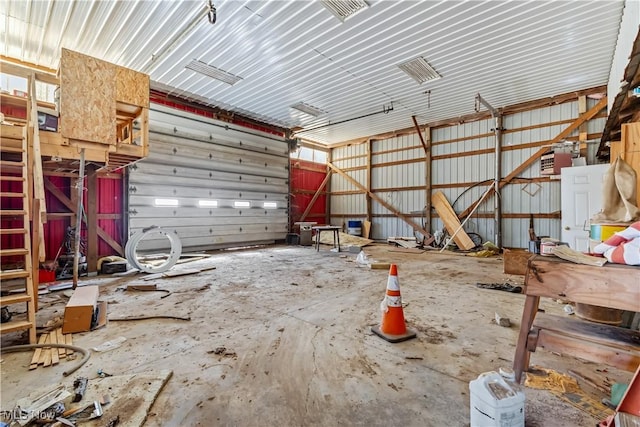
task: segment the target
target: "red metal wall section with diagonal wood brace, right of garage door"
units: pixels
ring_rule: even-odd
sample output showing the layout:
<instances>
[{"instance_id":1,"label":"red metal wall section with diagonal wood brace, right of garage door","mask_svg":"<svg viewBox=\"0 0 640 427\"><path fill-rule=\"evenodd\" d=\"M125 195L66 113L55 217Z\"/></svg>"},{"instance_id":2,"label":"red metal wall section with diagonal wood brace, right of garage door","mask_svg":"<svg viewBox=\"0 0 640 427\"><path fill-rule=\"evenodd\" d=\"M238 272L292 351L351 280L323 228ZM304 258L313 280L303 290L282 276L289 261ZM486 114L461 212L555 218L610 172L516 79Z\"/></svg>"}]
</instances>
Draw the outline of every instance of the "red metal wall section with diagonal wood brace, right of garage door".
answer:
<instances>
[{"instance_id":1,"label":"red metal wall section with diagonal wood brace, right of garage door","mask_svg":"<svg viewBox=\"0 0 640 427\"><path fill-rule=\"evenodd\" d=\"M291 225L300 220L307 206L311 202L320 184L326 176L326 166L304 160L291 160ZM323 190L323 193L326 188ZM327 213L327 196L320 194L313 204L305 221L315 221L324 224ZM293 229L293 227L292 227Z\"/></svg>"}]
</instances>

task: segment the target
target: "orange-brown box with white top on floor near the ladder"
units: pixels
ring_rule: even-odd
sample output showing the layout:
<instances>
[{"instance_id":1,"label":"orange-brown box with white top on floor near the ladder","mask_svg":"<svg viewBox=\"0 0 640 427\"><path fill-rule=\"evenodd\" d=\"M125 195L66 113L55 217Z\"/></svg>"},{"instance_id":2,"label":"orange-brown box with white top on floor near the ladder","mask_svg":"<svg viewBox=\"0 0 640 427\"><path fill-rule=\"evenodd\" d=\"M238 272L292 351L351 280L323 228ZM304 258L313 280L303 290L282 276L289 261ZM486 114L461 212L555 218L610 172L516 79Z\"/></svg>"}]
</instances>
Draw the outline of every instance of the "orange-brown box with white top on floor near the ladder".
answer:
<instances>
[{"instance_id":1,"label":"orange-brown box with white top on floor near the ladder","mask_svg":"<svg viewBox=\"0 0 640 427\"><path fill-rule=\"evenodd\" d=\"M63 334L90 331L98 325L98 314L106 318L106 313L99 313L98 295L97 286L81 286L73 292L64 309Z\"/></svg>"}]
</instances>

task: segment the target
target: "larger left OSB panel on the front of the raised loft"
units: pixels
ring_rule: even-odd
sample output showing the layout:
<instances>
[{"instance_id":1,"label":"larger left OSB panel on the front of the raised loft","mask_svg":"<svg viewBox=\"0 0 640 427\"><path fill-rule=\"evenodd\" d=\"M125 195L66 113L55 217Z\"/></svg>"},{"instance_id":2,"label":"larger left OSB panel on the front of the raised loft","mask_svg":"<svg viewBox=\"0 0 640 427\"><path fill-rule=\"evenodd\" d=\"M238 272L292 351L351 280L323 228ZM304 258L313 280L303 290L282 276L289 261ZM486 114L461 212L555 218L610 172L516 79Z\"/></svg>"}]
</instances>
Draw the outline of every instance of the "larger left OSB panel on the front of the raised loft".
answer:
<instances>
[{"instance_id":1,"label":"larger left OSB panel on the front of the raised loft","mask_svg":"<svg viewBox=\"0 0 640 427\"><path fill-rule=\"evenodd\" d=\"M116 66L62 49L60 131L69 139L116 143Z\"/></svg>"}]
</instances>

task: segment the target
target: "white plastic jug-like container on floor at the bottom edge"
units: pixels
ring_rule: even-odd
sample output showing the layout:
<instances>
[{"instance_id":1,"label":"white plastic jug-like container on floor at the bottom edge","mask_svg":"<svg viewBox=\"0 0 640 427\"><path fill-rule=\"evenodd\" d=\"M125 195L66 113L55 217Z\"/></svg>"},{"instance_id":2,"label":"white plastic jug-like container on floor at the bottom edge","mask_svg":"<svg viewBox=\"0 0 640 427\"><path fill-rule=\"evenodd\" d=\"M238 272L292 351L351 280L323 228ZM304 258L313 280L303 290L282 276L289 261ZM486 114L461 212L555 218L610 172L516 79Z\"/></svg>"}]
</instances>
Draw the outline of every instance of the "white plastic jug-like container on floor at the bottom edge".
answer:
<instances>
[{"instance_id":1,"label":"white plastic jug-like container on floor at the bottom edge","mask_svg":"<svg viewBox=\"0 0 640 427\"><path fill-rule=\"evenodd\" d=\"M497 372L469 383L471 427L523 427L524 393Z\"/></svg>"}]
</instances>

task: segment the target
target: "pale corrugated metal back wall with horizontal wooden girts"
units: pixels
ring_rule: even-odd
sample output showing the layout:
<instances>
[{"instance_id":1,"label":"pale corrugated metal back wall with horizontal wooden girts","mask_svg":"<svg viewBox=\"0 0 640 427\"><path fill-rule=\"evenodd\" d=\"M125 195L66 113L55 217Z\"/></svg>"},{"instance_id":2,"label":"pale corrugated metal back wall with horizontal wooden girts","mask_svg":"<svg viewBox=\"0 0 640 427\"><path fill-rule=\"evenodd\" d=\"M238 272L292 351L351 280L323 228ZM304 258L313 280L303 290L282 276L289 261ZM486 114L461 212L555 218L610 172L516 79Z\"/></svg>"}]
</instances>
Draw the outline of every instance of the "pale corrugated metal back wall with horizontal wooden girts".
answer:
<instances>
[{"instance_id":1,"label":"pale corrugated metal back wall with horizontal wooden girts","mask_svg":"<svg viewBox=\"0 0 640 427\"><path fill-rule=\"evenodd\" d=\"M587 99L587 108L597 103ZM520 144L544 143L564 130L579 116L578 102L566 102L530 111L505 115L503 127L502 177L540 149L540 145L517 148ZM605 124L603 114L587 123L590 138L599 136ZM432 186L442 191L456 212L466 209L479 199L488 183L473 186L494 177L494 121L478 120L454 126L432 129ZM575 133L577 135L577 132ZM595 141L597 142L597 141ZM587 157L593 162L597 144L588 144ZM371 142L371 189L422 225L425 202L425 155L417 134ZM484 151L481 151L484 150ZM471 152L471 153L470 153ZM367 144L339 147L333 150L334 164L366 186ZM548 180L540 174L536 161L523 171L515 183L502 190L503 236L505 247L528 246L529 214L534 220L538 235L560 237L560 183ZM365 217L366 198L339 175L331 181L332 223L341 224L351 218ZM372 237L386 239L389 236L412 236L413 229L404 221L375 201L372 202ZM432 230L442 229L437 218L432 220ZM469 220L465 229L479 234L484 241L493 240L493 201L485 202Z\"/></svg>"}]
</instances>

